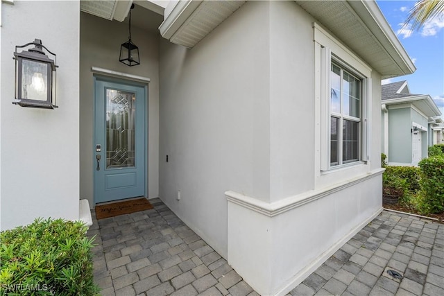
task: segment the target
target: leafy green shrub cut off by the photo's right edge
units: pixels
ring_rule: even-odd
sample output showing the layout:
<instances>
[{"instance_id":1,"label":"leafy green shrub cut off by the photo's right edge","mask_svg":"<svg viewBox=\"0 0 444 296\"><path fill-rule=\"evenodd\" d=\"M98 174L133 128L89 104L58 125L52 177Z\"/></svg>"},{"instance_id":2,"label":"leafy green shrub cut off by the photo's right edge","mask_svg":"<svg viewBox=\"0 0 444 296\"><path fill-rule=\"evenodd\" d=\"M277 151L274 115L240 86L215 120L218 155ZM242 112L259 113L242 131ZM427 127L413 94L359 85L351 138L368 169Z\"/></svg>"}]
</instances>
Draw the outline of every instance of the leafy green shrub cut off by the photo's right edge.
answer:
<instances>
[{"instance_id":1,"label":"leafy green shrub cut off by the photo's right edge","mask_svg":"<svg viewBox=\"0 0 444 296\"><path fill-rule=\"evenodd\" d=\"M444 156L433 156L419 162L421 190L430 213L444 211Z\"/></svg>"}]
</instances>

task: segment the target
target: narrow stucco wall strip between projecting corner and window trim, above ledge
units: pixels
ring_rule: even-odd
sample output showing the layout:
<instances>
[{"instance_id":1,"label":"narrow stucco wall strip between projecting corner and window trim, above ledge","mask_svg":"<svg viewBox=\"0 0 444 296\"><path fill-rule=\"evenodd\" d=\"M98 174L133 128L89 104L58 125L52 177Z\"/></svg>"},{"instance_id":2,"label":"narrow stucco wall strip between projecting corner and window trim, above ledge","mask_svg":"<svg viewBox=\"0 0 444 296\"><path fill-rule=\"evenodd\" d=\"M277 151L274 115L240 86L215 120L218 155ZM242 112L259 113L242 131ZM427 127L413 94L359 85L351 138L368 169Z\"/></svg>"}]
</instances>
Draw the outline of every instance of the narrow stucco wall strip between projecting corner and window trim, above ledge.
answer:
<instances>
[{"instance_id":1,"label":"narrow stucco wall strip between projecting corner and window trim, above ledge","mask_svg":"<svg viewBox=\"0 0 444 296\"><path fill-rule=\"evenodd\" d=\"M300 6L271 3L268 13L273 202L314 188L314 49L313 19Z\"/></svg>"}]
</instances>

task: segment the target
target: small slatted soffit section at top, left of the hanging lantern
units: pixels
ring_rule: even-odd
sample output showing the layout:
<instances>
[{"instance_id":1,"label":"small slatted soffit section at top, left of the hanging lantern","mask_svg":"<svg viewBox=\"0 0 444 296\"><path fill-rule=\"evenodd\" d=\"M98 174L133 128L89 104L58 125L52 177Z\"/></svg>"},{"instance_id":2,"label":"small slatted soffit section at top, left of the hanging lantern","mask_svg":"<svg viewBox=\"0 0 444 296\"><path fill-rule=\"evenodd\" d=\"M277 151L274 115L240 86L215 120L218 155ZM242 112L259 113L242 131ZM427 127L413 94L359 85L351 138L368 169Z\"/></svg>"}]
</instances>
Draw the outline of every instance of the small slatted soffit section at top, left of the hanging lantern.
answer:
<instances>
[{"instance_id":1,"label":"small slatted soffit section at top, left of the hanging lantern","mask_svg":"<svg viewBox=\"0 0 444 296\"><path fill-rule=\"evenodd\" d=\"M123 21L130 11L133 0L81 0L80 11L104 19Z\"/></svg>"}]
</instances>

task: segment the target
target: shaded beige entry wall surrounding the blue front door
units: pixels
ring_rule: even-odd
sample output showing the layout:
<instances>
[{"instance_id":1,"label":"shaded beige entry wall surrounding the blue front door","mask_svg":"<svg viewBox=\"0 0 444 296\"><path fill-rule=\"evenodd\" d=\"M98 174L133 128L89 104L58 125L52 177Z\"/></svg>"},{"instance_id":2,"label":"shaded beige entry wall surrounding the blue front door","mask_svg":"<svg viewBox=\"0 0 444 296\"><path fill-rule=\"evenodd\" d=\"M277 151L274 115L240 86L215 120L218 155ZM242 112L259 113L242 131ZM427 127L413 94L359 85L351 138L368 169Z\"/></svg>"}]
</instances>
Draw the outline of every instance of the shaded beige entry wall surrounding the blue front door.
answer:
<instances>
[{"instance_id":1,"label":"shaded beige entry wall surrounding the blue front door","mask_svg":"<svg viewBox=\"0 0 444 296\"><path fill-rule=\"evenodd\" d=\"M137 9L140 9L139 7ZM157 16L160 17L160 16ZM148 83L148 198L159 195L159 36L132 26L141 64L119 62L120 45L128 40L128 24L80 13L80 196L94 207L94 80L92 67L143 76Z\"/></svg>"}]
</instances>

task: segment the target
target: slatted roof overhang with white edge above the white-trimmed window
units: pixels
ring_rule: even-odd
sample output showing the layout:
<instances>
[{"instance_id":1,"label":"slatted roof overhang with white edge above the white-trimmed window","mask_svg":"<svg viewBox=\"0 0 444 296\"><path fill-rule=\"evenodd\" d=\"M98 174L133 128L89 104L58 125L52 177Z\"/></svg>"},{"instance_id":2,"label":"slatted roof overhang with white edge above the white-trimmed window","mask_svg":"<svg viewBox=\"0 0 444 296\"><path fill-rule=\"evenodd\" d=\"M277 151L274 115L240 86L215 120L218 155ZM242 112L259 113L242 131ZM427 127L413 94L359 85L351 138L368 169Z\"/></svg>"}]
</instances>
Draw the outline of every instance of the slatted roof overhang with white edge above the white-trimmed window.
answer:
<instances>
[{"instance_id":1,"label":"slatted roof overhang with white edge above the white-trimmed window","mask_svg":"<svg viewBox=\"0 0 444 296\"><path fill-rule=\"evenodd\" d=\"M382 78L416 68L375 1L298 1L325 28L363 58Z\"/></svg>"}]
</instances>

